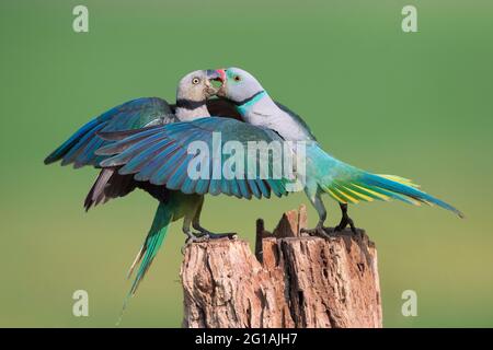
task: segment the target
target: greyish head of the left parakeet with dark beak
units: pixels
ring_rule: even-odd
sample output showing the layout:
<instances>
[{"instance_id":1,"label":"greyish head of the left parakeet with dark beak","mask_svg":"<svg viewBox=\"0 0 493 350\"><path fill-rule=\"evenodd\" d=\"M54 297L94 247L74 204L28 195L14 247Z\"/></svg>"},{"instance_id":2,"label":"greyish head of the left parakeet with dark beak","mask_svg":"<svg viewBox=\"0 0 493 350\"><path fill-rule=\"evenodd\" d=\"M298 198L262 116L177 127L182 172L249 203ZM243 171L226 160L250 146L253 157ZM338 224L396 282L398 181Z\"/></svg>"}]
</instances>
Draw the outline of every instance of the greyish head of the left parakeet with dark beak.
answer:
<instances>
[{"instance_id":1,"label":"greyish head of the left parakeet with dark beak","mask_svg":"<svg viewBox=\"0 0 493 350\"><path fill-rule=\"evenodd\" d=\"M186 74L180 80L177 85L176 100L206 101L218 91L218 89L213 86L213 80L220 80L219 72L213 69L196 70Z\"/></svg>"}]
</instances>

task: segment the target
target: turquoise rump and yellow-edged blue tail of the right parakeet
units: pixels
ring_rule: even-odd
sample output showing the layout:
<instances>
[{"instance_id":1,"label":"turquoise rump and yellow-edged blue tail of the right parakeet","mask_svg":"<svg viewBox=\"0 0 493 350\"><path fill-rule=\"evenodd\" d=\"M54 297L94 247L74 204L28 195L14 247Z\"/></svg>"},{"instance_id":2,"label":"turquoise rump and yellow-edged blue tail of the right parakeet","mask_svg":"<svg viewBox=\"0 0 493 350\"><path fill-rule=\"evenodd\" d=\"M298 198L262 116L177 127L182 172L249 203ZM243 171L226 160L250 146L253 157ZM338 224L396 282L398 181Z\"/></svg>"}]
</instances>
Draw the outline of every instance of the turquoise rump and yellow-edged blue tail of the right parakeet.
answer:
<instances>
[{"instance_id":1,"label":"turquoise rump and yellow-edged blue tail of the right parakeet","mask_svg":"<svg viewBox=\"0 0 493 350\"><path fill-rule=\"evenodd\" d=\"M307 155L312 159L311 175L317 177L319 187L339 202L399 199L415 206L437 205L463 218L459 210L420 190L410 179L370 174L334 159L318 145L310 147Z\"/></svg>"}]
</instances>

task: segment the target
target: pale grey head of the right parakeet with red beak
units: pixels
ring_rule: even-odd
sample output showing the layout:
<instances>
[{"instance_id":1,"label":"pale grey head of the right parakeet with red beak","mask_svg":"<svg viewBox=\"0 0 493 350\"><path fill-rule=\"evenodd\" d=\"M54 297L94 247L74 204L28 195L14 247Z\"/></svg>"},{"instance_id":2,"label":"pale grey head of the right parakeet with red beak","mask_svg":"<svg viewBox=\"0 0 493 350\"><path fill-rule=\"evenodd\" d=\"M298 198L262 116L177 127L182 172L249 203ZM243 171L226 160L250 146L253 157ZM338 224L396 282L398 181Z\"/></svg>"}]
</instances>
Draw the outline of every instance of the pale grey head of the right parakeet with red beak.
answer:
<instances>
[{"instance_id":1,"label":"pale grey head of the right parakeet with red beak","mask_svg":"<svg viewBox=\"0 0 493 350\"><path fill-rule=\"evenodd\" d=\"M241 103L264 91L264 88L252 74L240 68L218 69L216 72L219 75L216 80L222 81L217 95L233 103Z\"/></svg>"}]
</instances>

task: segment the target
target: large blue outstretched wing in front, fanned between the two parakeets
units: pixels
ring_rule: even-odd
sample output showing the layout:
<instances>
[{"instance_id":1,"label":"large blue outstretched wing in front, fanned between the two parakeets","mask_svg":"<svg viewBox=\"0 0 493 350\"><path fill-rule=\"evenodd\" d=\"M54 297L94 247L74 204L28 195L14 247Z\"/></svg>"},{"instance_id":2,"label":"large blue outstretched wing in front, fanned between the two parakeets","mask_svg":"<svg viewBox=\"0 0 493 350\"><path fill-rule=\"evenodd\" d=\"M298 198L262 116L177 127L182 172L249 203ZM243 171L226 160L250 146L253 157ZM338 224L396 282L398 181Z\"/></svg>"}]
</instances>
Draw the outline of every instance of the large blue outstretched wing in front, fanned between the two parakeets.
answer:
<instances>
[{"instance_id":1,"label":"large blue outstretched wing in front, fanned between the two parakeets","mask_svg":"<svg viewBox=\"0 0 493 350\"><path fill-rule=\"evenodd\" d=\"M237 153L221 152L229 141L236 141L236 145L243 148L243 156L236 159L239 162L231 163L233 176L225 173L223 164L231 161L231 156ZM248 145L251 145L249 142L272 145L272 141L276 141L279 144L278 149L283 150L283 139L272 130L234 119L209 117L147 128L99 149L96 153L105 156L114 155L101 162L102 167L118 166L121 175L135 174L134 178L138 182L164 185L169 189L185 194L225 194L248 199L252 196L268 198L271 192L278 197L287 194L286 185L289 179L283 175L273 176L274 162L282 160L274 159L271 151L265 153L255 151L252 159ZM192 142L200 142L203 148L196 149L195 145L198 143L191 148ZM220 162L217 163L218 156ZM262 164L264 161L266 163ZM251 172L253 163L255 170L264 166L268 173ZM195 170L199 168L199 176L190 174L190 170L195 165L198 165Z\"/></svg>"}]
</instances>

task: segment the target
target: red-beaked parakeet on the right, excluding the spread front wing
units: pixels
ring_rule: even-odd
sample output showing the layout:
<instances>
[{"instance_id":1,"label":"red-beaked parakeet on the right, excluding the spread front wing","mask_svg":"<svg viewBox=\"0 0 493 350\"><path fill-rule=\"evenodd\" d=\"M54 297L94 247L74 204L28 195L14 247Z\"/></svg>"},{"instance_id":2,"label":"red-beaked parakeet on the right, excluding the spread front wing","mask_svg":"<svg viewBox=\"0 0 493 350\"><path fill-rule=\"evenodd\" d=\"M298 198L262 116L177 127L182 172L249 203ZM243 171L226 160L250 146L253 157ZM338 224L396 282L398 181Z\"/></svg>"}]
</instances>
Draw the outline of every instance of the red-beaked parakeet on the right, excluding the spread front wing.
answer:
<instances>
[{"instance_id":1,"label":"red-beaked parakeet on the right, excluding the spread front wing","mask_svg":"<svg viewBox=\"0 0 493 350\"><path fill-rule=\"evenodd\" d=\"M326 210L322 194L328 194L341 206L343 217L336 230L343 230L349 224L355 233L353 220L347 214L347 205L359 201L399 199L416 206L437 205L463 217L459 210L420 190L417 185L406 178L371 174L331 156L321 149L306 122L298 115L279 108L249 72L239 68L219 69L218 72L223 80L218 96L231 101L245 122L270 128L284 140L307 142L305 192L319 213L317 226L307 230L308 233L328 233L323 226Z\"/></svg>"}]
</instances>

